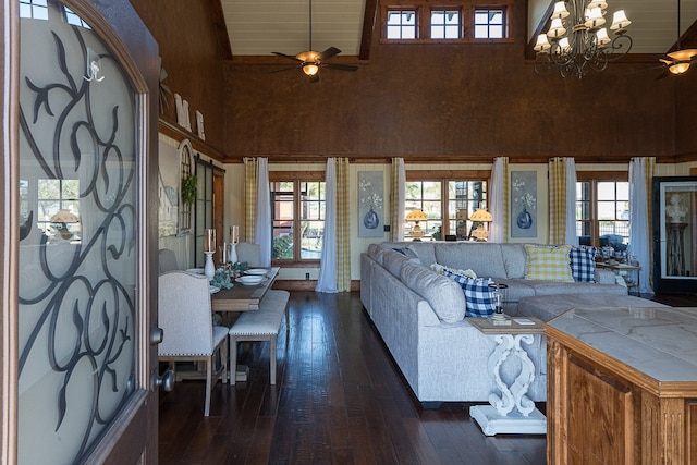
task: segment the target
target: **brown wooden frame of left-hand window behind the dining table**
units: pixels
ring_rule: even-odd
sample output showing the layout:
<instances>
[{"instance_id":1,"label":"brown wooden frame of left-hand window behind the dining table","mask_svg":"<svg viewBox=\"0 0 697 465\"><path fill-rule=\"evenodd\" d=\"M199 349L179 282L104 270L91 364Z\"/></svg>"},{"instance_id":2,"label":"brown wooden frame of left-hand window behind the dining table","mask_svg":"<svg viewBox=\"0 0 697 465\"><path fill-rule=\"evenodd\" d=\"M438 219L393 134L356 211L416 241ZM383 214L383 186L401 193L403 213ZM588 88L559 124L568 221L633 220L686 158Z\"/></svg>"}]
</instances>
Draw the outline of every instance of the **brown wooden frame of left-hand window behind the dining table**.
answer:
<instances>
[{"instance_id":1,"label":"brown wooden frame of left-hand window behind the dining table","mask_svg":"<svg viewBox=\"0 0 697 465\"><path fill-rule=\"evenodd\" d=\"M280 182L293 182L296 184L293 189L293 257L291 259L279 259L271 257L272 266L280 266L284 268L318 268L320 265L320 258L301 258L301 246L302 246L302 236L299 233L301 221L302 221L302 199L299 198L299 184L303 182L323 182L325 172L323 171L269 171L269 183L280 183ZM272 187L272 186L270 186ZM326 187L326 184L325 184ZM325 193L327 189L325 188ZM327 198L323 198L325 203ZM273 203L274 195L273 189L271 188L271 211L273 212ZM325 204L326 205L326 204ZM325 212L327 210L325 209ZM272 213L273 215L273 213ZM325 215L325 227L327 217ZM273 221L273 218L271 218ZM273 234L271 234L271 241L273 241ZM271 244L271 247L273 244Z\"/></svg>"}]
</instances>

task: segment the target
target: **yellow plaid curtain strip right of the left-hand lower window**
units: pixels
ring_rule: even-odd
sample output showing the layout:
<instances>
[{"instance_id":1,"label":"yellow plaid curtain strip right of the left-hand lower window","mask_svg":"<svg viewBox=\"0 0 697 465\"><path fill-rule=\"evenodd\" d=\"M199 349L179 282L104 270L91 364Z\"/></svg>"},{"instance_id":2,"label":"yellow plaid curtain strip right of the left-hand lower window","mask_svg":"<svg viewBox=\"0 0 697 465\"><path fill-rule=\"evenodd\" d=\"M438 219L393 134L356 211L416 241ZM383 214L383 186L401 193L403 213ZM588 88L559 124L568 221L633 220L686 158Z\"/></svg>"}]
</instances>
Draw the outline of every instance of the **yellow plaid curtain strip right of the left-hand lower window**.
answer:
<instances>
[{"instance_id":1,"label":"yellow plaid curtain strip right of the left-hand lower window","mask_svg":"<svg viewBox=\"0 0 697 465\"><path fill-rule=\"evenodd\" d=\"M348 159L337 158L337 290L351 291Z\"/></svg>"}]
</instances>

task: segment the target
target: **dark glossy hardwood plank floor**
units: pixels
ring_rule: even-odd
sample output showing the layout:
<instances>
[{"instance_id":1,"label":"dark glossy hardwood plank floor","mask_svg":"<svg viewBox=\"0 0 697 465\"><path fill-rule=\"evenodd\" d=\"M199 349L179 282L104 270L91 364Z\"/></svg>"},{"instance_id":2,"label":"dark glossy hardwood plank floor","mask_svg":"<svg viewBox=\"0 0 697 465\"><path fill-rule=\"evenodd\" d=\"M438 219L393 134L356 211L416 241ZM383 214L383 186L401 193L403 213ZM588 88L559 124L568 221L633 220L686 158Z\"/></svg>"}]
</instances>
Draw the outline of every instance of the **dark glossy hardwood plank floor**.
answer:
<instances>
[{"instance_id":1,"label":"dark glossy hardwood plank floor","mask_svg":"<svg viewBox=\"0 0 697 465\"><path fill-rule=\"evenodd\" d=\"M697 306L697 295L655 299ZM219 382L208 418L203 381L160 391L160 464L546 463L545 436L486 437L469 404L423 409L357 293L293 292L289 305L276 386L266 342L243 345L249 380Z\"/></svg>"}]
</instances>

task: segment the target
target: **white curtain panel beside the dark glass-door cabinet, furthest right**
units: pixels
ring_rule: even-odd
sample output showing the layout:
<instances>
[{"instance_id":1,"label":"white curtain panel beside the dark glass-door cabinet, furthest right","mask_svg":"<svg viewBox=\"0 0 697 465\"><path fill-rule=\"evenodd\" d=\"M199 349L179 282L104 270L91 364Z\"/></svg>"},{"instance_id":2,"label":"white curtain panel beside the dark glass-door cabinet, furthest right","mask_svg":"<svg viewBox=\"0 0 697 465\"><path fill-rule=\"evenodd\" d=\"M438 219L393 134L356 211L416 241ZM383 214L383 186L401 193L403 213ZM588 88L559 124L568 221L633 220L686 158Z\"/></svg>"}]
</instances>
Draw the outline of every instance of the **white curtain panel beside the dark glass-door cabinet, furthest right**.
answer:
<instances>
[{"instance_id":1,"label":"white curtain panel beside the dark glass-door cabinet, furthest right","mask_svg":"<svg viewBox=\"0 0 697 465\"><path fill-rule=\"evenodd\" d=\"M639 281L640 293L652 293L650 283L651 253L650 253L650 219L649 198L646 184L646 158L633 158L629 161L629 255L634 255L641 270Z\"/></svg>"}]
</instances>

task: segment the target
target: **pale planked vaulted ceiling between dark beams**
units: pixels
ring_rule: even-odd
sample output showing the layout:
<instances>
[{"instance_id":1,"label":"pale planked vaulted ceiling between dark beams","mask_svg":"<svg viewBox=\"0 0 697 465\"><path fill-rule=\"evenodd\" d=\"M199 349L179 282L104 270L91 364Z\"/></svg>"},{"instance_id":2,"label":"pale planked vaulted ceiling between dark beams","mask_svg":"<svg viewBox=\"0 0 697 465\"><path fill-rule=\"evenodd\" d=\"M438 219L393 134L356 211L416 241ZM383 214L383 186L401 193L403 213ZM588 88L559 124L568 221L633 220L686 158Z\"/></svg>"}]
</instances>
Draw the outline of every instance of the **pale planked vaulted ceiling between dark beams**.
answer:
<instances>
[{"instance_id":1,"label":"pale planked vaulted ceiling between dark beams","mask_svg":"<svg viewBox=\"0 0 697 465\"><path fill-rule=\"evenodd\" d=\"M547 22L553 0L528 0L528 38ZM379 0L311 0L314 50L333 46L343 56L359 56L366 4ZM309 47L310 0L221 0L233 56L295 54ZM664 53L677 39L676 0L608 0L608 15L625 10L632 21L632 53ZM370 13L370 12L368 12ZM680 33L697 19L697 0L682 0ZM379 27L379 22L376 26ZM370 30L369 28L367 30ZM694 45L693 45L694 46Z\"/></svg>"}]
</instances>

